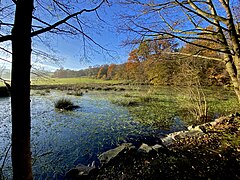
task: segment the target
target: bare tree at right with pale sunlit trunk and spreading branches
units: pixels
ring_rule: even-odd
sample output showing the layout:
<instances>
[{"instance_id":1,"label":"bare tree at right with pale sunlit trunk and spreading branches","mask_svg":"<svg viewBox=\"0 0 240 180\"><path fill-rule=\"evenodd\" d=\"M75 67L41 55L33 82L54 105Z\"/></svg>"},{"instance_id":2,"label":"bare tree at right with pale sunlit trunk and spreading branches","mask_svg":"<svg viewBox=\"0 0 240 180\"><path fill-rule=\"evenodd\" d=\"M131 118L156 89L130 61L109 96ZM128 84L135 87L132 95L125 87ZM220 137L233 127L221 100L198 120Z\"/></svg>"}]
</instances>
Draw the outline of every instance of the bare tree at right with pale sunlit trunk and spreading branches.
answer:
<instances>
[{"instance_id":1,"label":"bare tree at right with pale sunlit trunk and spreading branches","mask_svg":"<svg viewBox=\"0 0 240 180\"><path fill-rule=\"evenodd\" d=\"M122 0L121 3L132 10L122 15L126 20L124 28L136 33L139 39L175 38L202 51L222 54L222 59L198 53L190 56L224 62L240 102L239 0Z\"/></svg>"}]
</instances>

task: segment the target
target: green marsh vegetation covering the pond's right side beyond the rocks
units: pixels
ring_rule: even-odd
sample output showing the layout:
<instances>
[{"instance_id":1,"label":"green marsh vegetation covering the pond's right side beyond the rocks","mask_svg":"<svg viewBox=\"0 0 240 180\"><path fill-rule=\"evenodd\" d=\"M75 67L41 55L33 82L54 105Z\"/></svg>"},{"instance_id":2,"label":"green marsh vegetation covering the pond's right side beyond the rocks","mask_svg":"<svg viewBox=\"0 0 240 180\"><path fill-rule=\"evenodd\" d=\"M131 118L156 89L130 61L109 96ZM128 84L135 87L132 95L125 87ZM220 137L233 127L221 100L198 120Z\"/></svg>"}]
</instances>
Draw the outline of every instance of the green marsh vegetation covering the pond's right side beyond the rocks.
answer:
<instances>
[{"instance_id":1,"label":"green marsh vegetation covering the pond's right side beyond the rocks","mask_svg":"<svg viewBox=\"0 0 240 180\"><path fill-rule=\"evenodd\" d=\"M204 87L203 91L208 101L208 121L240 111L233 91L220 87ZM114 104L128 108L132 117L143 125L169 130L174 125L176 117L186 126L202 123L189 112L189 102L186 101L184 88L180 91L179 88L173 87L144 90L139 88L124 93L108 94L107 98Z\"/></svg>"}]
</instances>

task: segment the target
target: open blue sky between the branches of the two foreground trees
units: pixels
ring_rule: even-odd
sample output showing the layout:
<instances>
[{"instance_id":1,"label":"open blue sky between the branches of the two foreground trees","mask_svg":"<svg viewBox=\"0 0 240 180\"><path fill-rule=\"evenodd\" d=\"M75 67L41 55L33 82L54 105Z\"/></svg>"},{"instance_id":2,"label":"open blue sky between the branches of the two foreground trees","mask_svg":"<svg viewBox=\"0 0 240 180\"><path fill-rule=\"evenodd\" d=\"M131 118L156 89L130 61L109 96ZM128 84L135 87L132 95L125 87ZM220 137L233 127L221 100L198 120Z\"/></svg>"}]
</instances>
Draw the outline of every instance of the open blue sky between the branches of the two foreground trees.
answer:
<instances>
[{"instance_id":1,"label":"open blue sky between the branches of the two foreground trees","mask_svg":"<svg viewBox=\"0 0 240 180\"><path fill-rule=\"evenodd\" d=\"M116 14L119 12L119 6L113 4L112 6L104 6L98 11L98 15L104 21L94 21L96 19L95 13L88 13L83 15L86 18L85 22L89 22L92 27L84 28L84 32L89 35L94 41L100 44L102 47L108 49L108 51L99 48L98 46L86 41L85 50L82 41L82 37L68 37L59 35L41 35L40 38L33 38L33 49L47 52L60 59L58 63L51 62L50 60L44 60L41 56L32 56L32 64L34 67L40 67L46 70L54 70L60 67L65 69L84 69L89 66L111 64L111 63L123 63L128 58L130 47L123 47L121 44L126 39L124 34L116 32L118 26L118 20ZM82 17L82 16L81 16ZM42 42L44 41L44 45ZM51 48L47 46L50 45ZM2 44L1 44L2 46ZM11 50L11 46L8 47ZM0 52L1 53L1 52ZM85 54L86 53L86 54ZM0 54L1 58L11 60L10 56ZM3 62L0 61L0 64ZM10 65L5 63L7 67Z\"/></svg>"}]
</instances>

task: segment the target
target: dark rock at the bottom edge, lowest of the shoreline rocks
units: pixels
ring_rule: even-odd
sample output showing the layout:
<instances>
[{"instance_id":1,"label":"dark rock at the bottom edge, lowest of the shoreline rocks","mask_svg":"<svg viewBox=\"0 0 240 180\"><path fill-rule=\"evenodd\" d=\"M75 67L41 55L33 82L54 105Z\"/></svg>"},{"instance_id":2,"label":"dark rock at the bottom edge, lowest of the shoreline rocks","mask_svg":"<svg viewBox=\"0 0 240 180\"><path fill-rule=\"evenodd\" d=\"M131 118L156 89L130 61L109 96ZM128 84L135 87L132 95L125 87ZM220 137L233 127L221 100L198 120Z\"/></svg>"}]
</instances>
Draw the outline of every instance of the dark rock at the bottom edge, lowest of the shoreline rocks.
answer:
<instances>
[{"instance_id":1,"label":"dark rock at the bottom edge, lowest of the shoreline rocks","mask_svg":"<svg viewBox=\"0 0 240 180\"><path fill-rule=\"evenodd\" d=\"M95 174L98 169L94 166L89 167L83 164L77 165L75 168L71 169L66 173L65 179L89 179L93 174Z\"/></svg>"}]
</instances>

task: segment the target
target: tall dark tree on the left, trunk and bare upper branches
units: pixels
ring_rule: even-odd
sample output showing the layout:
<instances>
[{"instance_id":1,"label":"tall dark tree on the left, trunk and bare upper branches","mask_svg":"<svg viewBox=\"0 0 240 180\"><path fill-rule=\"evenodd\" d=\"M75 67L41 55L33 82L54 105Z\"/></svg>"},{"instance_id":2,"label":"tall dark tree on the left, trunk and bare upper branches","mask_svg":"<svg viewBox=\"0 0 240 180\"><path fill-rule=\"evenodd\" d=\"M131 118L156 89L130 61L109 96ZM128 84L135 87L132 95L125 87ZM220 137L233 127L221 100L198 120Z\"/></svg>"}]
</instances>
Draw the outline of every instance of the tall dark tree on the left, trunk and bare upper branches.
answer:
<instances>
[{"instance_id":1,"label":"tall dark tree on the left, trunk and bare upper branches","mask_svg":"<svg viewBox=\"0 0 240 180\"><path fill-rule=\"evenodd\" d=\"M13 179L33 179L30 149L30 70L32 38L50 32L78 35L97 44L83 31L81 15L96 12L105 0L12 0L0 7L0 49L12 44L12 166ZM34 5L35 3L35 5ZM83 8L85 7L85 8ZM48 18L51 16L51 18ZM40 38L40 37L39 37Z\"/></svg>"}]
</instances>

